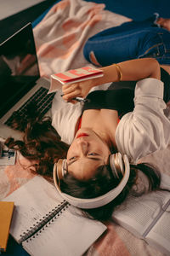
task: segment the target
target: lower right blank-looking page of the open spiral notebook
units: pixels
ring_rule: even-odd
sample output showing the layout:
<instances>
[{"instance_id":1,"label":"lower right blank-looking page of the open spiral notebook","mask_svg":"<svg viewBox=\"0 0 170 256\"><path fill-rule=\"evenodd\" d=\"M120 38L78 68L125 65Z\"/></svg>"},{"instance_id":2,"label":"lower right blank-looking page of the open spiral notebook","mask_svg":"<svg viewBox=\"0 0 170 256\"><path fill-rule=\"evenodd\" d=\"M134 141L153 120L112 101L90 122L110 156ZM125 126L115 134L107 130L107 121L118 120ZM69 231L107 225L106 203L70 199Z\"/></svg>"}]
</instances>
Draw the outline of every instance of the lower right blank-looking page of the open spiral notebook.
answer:
<instances>
[{"instance_id":1,"label":"lower right blank-looking page of the open spiral notebook","mask_svg":"<svg viewBox=\"0 0 170 256\"><path fill-rule=\"evenodd\" d=\"M69 208L22 243L28 253L34 256L80 256L106 230L104 224L73 214Z\"/></svg>"}]
</instances>

